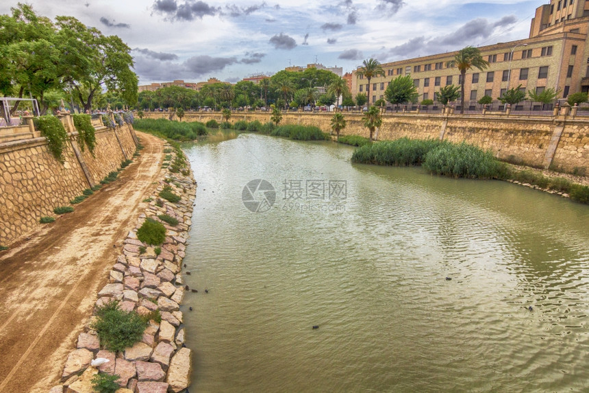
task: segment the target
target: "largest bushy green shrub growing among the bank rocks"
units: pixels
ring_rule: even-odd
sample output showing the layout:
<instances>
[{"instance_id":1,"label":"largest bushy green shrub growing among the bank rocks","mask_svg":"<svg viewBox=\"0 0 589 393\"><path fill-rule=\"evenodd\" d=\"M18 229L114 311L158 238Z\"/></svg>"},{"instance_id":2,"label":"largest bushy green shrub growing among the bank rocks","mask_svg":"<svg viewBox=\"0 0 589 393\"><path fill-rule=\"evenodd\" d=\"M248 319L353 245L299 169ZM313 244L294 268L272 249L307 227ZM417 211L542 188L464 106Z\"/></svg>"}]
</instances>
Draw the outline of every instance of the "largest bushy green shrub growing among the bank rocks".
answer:
<instances>
[{"instance_id":1,"label":"largest bushy green shrub growing among the bank rocks","mask_svg":"<svg viewBox=\"0 0 589 393\"><path fill-rule=\"evenodd\" d=\"M140 342L148 325L136 311L121 310L117 300L96 307L95 314L97 320L92 323L92 329L97 331L101 346L113 352Z\"/></svg>"}]
</instances>

